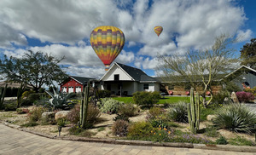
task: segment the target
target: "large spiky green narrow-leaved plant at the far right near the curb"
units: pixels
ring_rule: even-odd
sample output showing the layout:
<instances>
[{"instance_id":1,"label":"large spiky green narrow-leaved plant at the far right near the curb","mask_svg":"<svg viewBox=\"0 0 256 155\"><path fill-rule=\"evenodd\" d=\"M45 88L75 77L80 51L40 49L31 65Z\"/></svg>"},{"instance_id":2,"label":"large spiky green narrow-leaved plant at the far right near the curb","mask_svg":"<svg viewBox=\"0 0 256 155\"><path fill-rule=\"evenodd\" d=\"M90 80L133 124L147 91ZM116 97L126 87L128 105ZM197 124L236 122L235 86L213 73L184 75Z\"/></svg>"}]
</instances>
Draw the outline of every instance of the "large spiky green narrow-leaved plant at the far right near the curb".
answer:
<instances>
[{"instance_id":1,"label":"large spiky green narrow-leaved plant at the far right near the curb","mask_svg":"<svg viewBox=\"0 0 256 155\"><path fill-rule=\"evenodd\" d=\"M212 122L220 129L251 134L256 123L256 114L246 106L231 104L220 108Z\"/></svg>"}]
</instances>

